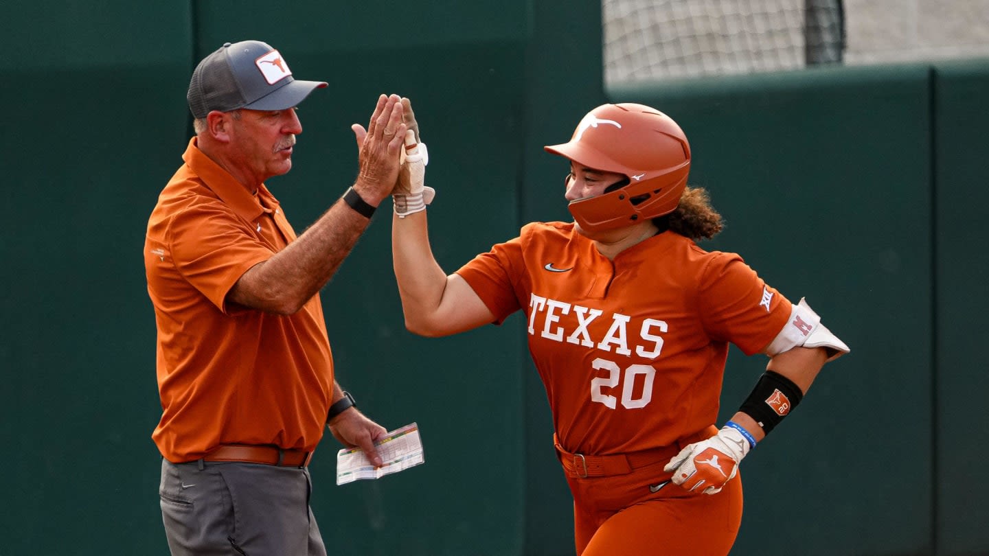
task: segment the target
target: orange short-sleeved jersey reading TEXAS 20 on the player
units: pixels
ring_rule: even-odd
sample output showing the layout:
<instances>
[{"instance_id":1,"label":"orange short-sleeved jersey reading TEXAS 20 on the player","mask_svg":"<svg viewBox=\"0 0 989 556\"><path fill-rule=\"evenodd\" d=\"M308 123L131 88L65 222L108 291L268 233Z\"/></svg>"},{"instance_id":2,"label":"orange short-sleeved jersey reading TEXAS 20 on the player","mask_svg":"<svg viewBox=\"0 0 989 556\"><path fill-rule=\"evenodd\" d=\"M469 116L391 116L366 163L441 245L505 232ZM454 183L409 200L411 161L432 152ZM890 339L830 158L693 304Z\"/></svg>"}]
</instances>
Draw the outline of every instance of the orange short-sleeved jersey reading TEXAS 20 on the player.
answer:
<instances>
[{"instance_id":1,"label":"orange short-sleeved jersey reading TEXAS 20 on the player","mask_svg":"<svg viewBox=\"0 0 989 556\"><path fill-rule=\"evenodd\" d=\"M728 344L762 351L791 308L739 255L675 232L611 261L573 223L530 224L457 273L498 322L525 313L557 437L594 455L714 424Z\"/></svg>"}]
</instances>

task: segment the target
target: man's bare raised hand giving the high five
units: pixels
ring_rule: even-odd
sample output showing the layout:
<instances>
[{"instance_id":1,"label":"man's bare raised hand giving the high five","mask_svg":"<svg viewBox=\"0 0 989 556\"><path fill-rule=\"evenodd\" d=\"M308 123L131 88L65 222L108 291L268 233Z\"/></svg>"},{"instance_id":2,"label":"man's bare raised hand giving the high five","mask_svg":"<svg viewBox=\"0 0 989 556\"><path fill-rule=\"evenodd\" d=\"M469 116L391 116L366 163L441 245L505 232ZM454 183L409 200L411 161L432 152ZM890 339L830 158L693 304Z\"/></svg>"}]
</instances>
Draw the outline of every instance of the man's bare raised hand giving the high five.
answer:
<instances>
[{"instance_id":1,"label":"man's bare raised hand giving the high five","mask_svg":"<svg viewBox=\"0 0 989 556\"><path fill-rule=\"evenodd\" d=\"M359 170L354 189L365 202L377 206L392 193L401 166L405 142L402 97L381 95L365 130L350 127L357 139Z\"/></svg>"}]
</instances>

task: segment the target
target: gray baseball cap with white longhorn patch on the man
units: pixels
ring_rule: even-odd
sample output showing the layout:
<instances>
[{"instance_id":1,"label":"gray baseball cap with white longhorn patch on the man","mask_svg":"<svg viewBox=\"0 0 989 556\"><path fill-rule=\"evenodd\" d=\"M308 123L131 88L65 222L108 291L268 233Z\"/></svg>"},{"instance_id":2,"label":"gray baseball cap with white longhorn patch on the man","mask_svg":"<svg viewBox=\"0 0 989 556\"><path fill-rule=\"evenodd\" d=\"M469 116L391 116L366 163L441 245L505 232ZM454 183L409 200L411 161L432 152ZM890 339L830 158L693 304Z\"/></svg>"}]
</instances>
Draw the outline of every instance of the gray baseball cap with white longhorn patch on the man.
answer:
<instances>
[{"instance_id":1,"label":"gray baseball cap with white longhorn patch on the man","mask_svg":"<svg viewBox=\"0 0 989 556\"><path fill-rule=\"evenodd\" d=\"M241 41L226 43L199 62L186 100L193 117L199 119L213 110L285 110L325 86L323 81L292 77L289 64L275 48L260 41Z\"/></svg>"}]
</instances>

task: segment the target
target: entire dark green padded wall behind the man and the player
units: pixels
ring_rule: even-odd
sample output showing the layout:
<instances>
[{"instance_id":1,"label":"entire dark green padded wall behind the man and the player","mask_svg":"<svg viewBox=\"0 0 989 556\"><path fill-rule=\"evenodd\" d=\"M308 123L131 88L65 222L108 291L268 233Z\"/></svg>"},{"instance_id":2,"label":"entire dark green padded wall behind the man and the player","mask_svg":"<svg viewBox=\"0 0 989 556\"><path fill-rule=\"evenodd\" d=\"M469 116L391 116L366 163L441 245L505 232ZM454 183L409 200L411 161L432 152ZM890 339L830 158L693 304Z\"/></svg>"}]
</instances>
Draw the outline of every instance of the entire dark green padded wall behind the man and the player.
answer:
<instances>
[{"instance_id":1,"label":"entire dark green padded wall behind the man and the player","mask_svg":"<svg viewBox=\"0 0 989 556\"><path fill-rule=\"evenodd\" d=\"M271 180L302 232L352 182L350 124L413 100L432 163L432 244L453 271L532 220L566 219L542 145L590 108L651 104L684 128L691 182L743 254L853 348L747 460L735 555L989 553L989 60L601 85L596 2L361 4L17 0L0 20L0 556L166 554L149 434L160 407L141 248L191 134L195 62L278 47L328 81ZM235 10L235 13L233 13ZM384 215L387 217L387 215ZM517 316L405 331L378 216L322 299L340 382L427 463L333 484L313 507L340 555L572 554L570 498ZM722 417L764 358L733 351Z\"/></svg>"}]
</instances>

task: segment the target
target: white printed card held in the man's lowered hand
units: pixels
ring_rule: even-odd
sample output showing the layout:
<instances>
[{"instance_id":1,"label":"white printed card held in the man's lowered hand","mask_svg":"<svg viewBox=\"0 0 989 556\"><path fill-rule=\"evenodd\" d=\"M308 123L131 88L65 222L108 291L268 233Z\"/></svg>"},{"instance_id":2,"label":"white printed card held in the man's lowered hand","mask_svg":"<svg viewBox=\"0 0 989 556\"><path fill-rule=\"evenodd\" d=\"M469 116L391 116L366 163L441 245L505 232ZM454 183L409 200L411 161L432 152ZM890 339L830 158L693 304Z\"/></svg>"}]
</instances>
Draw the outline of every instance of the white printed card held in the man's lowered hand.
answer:
<instances>
[{"instance_id":1,"label":"white printed card held in the man's lowered hand","mask_svg":"<svg viewBox=\"0 0 989 556\"><path fill-rule=\"evenodd\" d=\"M375 442L384 464L375 468L364 450L345 448L336 453L336 484L345 485L358 479L380 479L409 467L425 463L419 427L414 422L392 430Z\"/></svg>"}]
</instances>

